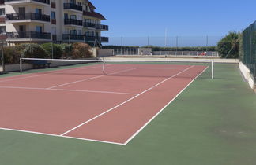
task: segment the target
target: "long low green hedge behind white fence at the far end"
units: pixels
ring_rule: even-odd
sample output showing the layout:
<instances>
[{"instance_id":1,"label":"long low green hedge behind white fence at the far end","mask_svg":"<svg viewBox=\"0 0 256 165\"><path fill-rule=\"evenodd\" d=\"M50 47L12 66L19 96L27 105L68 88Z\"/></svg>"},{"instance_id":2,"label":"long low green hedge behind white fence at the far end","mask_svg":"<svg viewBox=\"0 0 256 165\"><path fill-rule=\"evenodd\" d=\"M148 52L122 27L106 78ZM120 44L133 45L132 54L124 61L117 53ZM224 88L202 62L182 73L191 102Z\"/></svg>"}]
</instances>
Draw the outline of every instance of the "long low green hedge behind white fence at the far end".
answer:
<instances>
[{"instance_id":1,"label":"long low green hedge behind white fence at the far end","mask_svg":"<svg viewBox=\"0 0 256 165\"><path fill-rule=\"evenodd\" d=\"M102 46L103 49L137 49L140 46ZM216 51L216 46L196 46L196 47L160 47L141 46L141 48L152 48L152 51Z\"/></svg>"}]
</instances>

